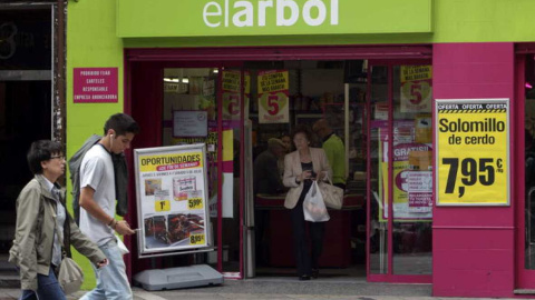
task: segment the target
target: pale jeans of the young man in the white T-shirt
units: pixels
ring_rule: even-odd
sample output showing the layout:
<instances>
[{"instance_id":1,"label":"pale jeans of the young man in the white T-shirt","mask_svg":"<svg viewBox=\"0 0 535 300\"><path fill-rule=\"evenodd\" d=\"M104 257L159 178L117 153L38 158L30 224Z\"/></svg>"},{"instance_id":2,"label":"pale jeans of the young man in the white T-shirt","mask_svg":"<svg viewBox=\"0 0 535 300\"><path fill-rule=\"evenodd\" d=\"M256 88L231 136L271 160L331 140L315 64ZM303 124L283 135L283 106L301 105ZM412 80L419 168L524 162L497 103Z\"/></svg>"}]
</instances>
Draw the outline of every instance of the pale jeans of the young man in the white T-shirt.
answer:
<instances>
[{"instance_id":1,"label":"pale jeans of the young man in the white T-shirt","mask_svg":"<svg viewBox=\"0 0 535 300\"><path fill-rule=\"evenodd\" d=\"M93 266L97 278L97 287L84 294L80 300L132 300L130 283L126 277L126 266L123 254L119 252L117 242L109 242L99 247L108 258L109 264L97 269Z\"/></svg>"}]
</instances>

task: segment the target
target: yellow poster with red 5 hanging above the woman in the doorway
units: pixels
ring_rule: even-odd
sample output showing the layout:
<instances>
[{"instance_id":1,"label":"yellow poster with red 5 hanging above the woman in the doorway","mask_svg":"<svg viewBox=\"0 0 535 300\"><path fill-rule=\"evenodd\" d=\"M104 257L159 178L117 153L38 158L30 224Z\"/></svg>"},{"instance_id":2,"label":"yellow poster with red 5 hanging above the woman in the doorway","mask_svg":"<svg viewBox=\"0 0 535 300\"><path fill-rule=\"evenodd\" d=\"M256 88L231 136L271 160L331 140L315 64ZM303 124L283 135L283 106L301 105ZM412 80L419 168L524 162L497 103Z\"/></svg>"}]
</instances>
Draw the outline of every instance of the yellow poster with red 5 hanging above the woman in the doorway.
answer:
<instances>
[{"instance_id":1,"label":"yellow poster with red 5 hanging above the woman in the doorway","mask_svg":"<svg viewBox=\"0 0 535 300\"><path fill-rule=\"evenodd\" d=\"M290 80L288 71L259 72L259 122L288 123Z\"/></svg>"}]
</instances>

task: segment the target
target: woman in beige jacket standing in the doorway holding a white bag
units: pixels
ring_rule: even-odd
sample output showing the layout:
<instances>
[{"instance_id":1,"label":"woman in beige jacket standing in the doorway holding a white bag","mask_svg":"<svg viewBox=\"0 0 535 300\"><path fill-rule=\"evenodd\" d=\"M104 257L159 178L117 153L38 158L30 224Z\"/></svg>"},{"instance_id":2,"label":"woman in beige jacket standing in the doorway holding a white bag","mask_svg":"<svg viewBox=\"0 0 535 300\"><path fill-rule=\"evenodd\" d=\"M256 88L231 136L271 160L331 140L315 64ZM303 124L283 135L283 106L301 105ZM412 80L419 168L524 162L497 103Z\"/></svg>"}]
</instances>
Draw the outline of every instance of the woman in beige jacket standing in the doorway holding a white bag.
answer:
<instances>
[{"instance_id":1,"label":"woman in beige jacket standing in the doorway holding a white bag","mask_svg":"<svg viewBox=\"0 0 535 300\"><path fill-rule=\"evenodd\" d=\"M299 280L310 280L311 277L319 276L319 258L323 250L325 226L324 222L304 220L303 201L312 186L312 180L323 180L327 176L332 176L325 152L320 148L311 148L310 139L311 132L308 127L296 127L293 132L296 150L284 158L283 183L290 188L284 207L291 210L293 250ZM307 227L309 227L308 231ZM311 241L310 246L307 240Z\"/></svg>"}]
</instances>

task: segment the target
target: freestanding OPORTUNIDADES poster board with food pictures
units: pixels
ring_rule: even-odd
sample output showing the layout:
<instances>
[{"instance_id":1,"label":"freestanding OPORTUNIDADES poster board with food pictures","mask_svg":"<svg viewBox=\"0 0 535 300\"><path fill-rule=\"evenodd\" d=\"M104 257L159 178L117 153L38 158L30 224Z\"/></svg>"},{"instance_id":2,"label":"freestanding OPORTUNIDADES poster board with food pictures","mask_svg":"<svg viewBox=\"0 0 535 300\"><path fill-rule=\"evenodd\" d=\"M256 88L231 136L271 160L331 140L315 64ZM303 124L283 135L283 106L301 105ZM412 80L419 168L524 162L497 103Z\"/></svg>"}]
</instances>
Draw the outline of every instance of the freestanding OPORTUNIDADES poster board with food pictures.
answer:
<instances>
[{"instance_id":1,"label":"freestanding OPORTUNIDADES poster board with food pictures","mask_svg":"<svg viewBox=\"0 0 535 300\"><path fill-rule=\"evenodd\" d=\"M136 149L139 256L208 247L202 143Z\"/></svg>"}]
</instances>

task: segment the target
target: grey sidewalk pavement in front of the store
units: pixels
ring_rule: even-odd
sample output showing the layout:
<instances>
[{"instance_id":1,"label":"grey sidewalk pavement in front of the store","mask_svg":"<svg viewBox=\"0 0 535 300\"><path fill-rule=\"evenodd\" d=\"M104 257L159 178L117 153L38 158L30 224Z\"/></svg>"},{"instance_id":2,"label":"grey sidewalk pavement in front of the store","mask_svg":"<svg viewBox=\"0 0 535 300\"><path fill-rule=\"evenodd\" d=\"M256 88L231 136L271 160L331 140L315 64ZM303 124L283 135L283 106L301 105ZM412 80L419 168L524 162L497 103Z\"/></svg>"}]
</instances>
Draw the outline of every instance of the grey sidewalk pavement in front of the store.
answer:
<instances>
[{"instance_id":1,"label":"grey sidewalk pavement in front of the store","mask_svg":"<svg viewBox=\"0 0 535 300\"><path fill-rule=\"evenodd\" d=\"M363 280L311 280L296 281L288 278L261 278L225 280L217 287L200 287L181 290L145 291L133 288L135 300L289 300L289 299L348 299L348 300L441 300L431 297L431 284L370 283ZM0 289L0 300L17 299L16 289ZM69 296L79 299L84 292ZM461 298L444 298L447 300Z\"/></svg>"}]
</instances>

